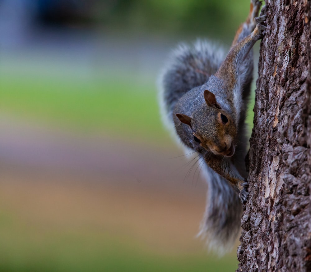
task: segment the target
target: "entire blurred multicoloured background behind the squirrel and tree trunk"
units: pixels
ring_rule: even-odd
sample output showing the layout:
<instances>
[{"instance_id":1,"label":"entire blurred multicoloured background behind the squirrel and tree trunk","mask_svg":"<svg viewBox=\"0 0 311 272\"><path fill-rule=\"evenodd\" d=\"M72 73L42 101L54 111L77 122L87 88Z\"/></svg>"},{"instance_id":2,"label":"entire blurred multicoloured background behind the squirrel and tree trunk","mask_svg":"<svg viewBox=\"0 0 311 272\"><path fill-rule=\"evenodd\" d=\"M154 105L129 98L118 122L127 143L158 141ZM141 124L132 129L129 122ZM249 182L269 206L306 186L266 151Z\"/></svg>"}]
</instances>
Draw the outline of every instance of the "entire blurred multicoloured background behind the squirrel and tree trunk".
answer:
<instances>
[{"instance_id":1,"label":"entire blurred multicoloured background behind the squirrel and tree trunk","mask_svg":"<svg viewBox=\"0 0 311 272\"><path fill-rule=\"evenodd\" d=\"M0 271L237 269L235 249L195 238L207 187L161 124L156 81L180 41L229 48L248 9L2 1Z\"/></svg>"}]
</instances>

